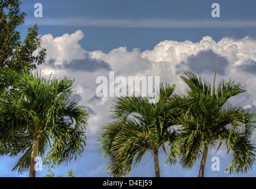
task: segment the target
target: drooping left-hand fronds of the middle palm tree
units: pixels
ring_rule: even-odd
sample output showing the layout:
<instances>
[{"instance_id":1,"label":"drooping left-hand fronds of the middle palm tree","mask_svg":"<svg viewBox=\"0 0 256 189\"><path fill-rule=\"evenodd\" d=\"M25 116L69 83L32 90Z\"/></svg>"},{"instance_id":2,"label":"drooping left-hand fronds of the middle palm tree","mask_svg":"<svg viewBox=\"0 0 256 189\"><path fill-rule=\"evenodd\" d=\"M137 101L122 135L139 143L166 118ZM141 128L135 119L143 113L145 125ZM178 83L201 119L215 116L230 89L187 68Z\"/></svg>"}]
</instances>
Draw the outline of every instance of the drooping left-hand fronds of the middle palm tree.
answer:
<instances>
[{"instance_id":1,"label":"drooping left-hand fronds of the middle palm tree","mask_svg":"<svg viewBox=\"0 0 256 189\"><path fill-rule=\"evenodd\" d=\"M138 122L137 122L138 123ZM153 148L149 140L150 131L141 123L128 120L127 123L112 122L103 128L99 135L101 152L108 159L108 170L114 177L123 177L131 172L135 155L135 165L140 162L142 155Z\"/></svg>"}]
</instances>

